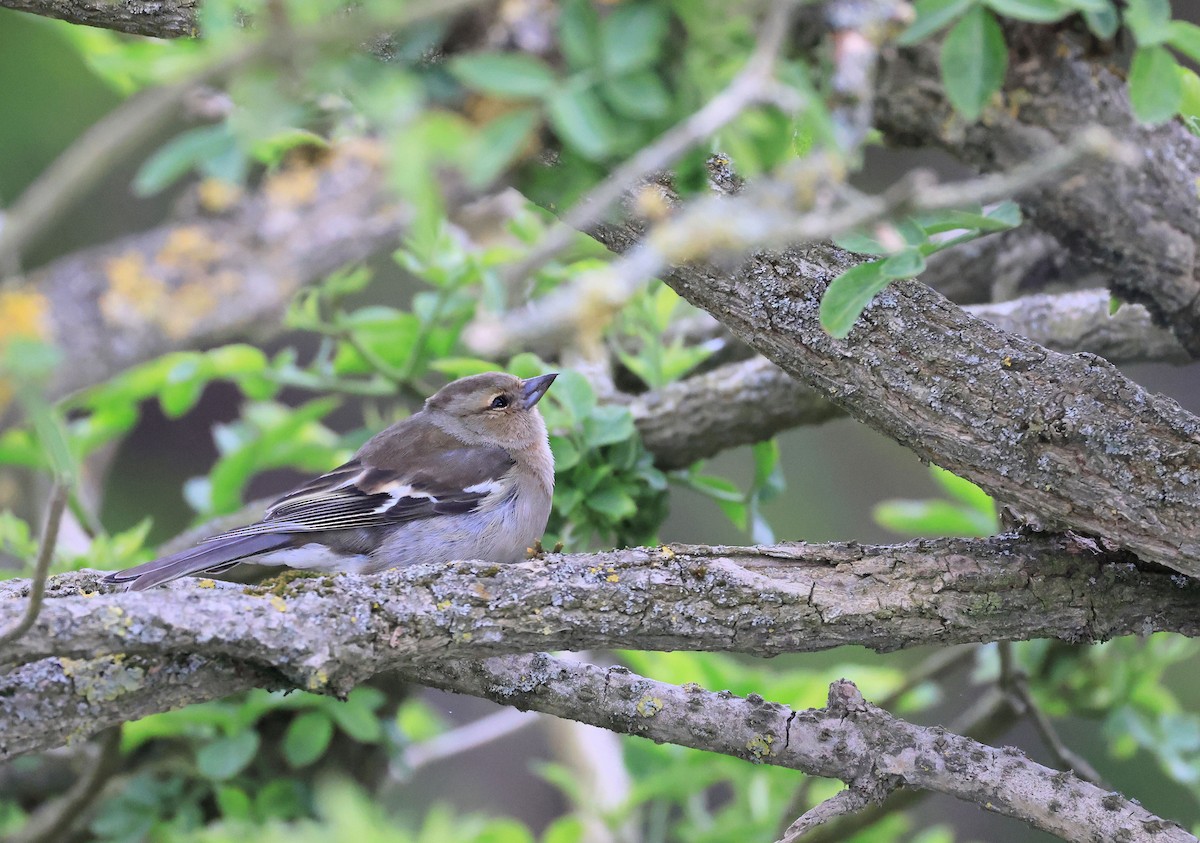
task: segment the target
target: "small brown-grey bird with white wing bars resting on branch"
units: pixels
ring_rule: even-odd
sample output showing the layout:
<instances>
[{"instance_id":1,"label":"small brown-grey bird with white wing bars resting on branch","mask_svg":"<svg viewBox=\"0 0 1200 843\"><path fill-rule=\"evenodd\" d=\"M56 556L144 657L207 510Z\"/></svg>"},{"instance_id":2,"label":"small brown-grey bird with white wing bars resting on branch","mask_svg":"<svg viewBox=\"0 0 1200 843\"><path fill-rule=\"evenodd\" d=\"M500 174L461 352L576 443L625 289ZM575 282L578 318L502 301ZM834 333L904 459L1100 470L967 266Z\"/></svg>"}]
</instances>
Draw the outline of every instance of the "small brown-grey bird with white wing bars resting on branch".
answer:
<instances>
[{"instance_id":1,"label":"small brown-grey bird with white wing bars resting on branch","mask_svg":"<svg viewBox=\"0 0 1200 843\"><path fill-rule=\"evenodd\" d=\"M557 372L460 378L263 520L119 570L143 591L239 562L372 574L418 562L517 562L546 528L554 458L538 401Z\"/></svg>"}]
</instances>

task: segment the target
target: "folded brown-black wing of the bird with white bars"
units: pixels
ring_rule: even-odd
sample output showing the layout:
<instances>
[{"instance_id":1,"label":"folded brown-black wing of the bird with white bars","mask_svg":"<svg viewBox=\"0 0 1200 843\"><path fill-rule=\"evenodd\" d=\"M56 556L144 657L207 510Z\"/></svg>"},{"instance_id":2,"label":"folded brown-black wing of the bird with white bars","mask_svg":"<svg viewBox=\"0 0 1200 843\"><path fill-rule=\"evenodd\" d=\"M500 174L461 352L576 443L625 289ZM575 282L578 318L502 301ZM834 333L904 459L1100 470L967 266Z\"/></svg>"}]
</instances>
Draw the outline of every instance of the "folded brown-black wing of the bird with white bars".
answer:
<instances>
[{"instance_id":1,"label":"folded brown-black wing of the bird with white bars","mask_svg":"<svg viewBox=\"0 0 1200 843\"><path fill-rule=\"evenodd\" d=\"M503 448L467 446L416 426L397 441L398 447L386 452L364 449L275 501L258 524L221 537L353 530L457 515L512 491L504 478L514 461Z\"/></svg>"}]
</instances>

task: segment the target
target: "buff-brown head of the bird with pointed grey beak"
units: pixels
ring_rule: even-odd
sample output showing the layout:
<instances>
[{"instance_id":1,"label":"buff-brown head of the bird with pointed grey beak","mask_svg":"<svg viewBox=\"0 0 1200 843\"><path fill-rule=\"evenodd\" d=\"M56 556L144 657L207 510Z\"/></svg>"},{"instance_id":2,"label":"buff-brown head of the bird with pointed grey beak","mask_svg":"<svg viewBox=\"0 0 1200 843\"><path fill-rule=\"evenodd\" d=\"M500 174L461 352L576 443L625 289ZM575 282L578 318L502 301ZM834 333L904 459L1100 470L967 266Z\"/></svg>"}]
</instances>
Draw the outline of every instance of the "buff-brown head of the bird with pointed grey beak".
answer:
<instances>
[{"instance_id":1,"label":"buff-brown head of the bird with pointed grey beak","mask_svg":"<svg viewBox=\"0 0 1200 843\"><path fill-rule=\"evenodd\" d=\"M504 372L458 378L425 402L442 417L448 432L460 438L518 450L546 441L546 423L538 401L557 372L521 379Z\"/></svg>"}]
</instances>

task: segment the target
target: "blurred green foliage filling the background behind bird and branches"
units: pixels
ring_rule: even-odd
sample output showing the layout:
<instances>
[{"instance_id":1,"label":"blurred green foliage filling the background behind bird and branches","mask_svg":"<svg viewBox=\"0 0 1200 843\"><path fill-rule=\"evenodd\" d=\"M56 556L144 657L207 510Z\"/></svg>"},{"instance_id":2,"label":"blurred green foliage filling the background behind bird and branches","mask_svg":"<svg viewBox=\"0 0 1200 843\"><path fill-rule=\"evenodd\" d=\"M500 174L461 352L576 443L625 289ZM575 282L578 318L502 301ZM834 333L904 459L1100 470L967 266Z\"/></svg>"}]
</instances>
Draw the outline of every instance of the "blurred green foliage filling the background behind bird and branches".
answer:
<instances>
[{"instance_id":1,"label":"blurred green foliage filling the background behind bird and branches","mask_svg":"<svg viewBox=\"0 0 1200 843\"><path fill-rule=\"evenodd\" d=\"M181 120L138 160L108 173L85 203L35 244L26 255L31 267L148 227L197 184L253 186L290 156L320 155L361 134L386 145L392 186L418 208L416 223L390 259L346 268L304 291L284 318L286 330L268 342L173 353L55 406L38 403L32 393L23 399L31 424L0 435L0 465L80 474L72 512L86 542L65 542L54 570L151 558L180 530L236 513L301 474L337 465L448 378L499 367L521 376L563 372L542 403L558 474L547 545L562 542L570 551L584 551L672 540L896 540L998 530L995 509L978 489L920 466L847 420L664 472L642 446L628 407L598 395L586 369L532 353L478 359L463 341L478 313L502 312L608 259L581 235L523 286L509 283L503 273L554 225L545 209L569 208L616 162L728 83L754 48L754 16L727 13L715 0L564 0L554 43L542 55L482 48L438 61L439 44L454 34L438 20L400 25L410 7L365 0L348 16L341 0L293 0L281 20L265 6L205 0L199 7L204 37L174 42L0 11L0 78L10 83L0 85L5 203L132 92L215 62L240 61L223 86L221 119ZM914 29L905 37L929 37L953 25L959 35L950 47L961 49L965 30L974 26L989 49L997 49L990 29L996 14L1042 10L1038 19L1050 22L1084 10L1094 29L1108 25L1104 14L1112 5L997 0L918 2L917 8ZM1162 10L1147 8L1135 32L1144 38L1142 64L1153 62L1153 72L1182 72L1174 58L1163 71L1159 53L1165 46L1189 46L1189 32L1168 28L1159 37L1154 22ZM246 26L247 19L254 25ZM370 50L348 49L380 31L389 35ZM271 38L288 41L292 52L269 49L264 44ZM245 55L253 58L238 58ZM678 186L685 193L702 190L703 162L714 150L728 155L744 175L817 150L845 159L859 186L892 180L907 160L876 147L838 148L823 103L824 70L820 56L787 59L780 78L809 106L794 115L768 107L744 112L710 147L679 162ZM1140 77L1136 82L1140 96L1148 97L1152 86ZM1184 90L1189 84L1181 83ZM955 90L955 104L970 113L984 95ZM1142 106L1174 114L1186 110L1181 102ZM530 201L499 231L468 237L445 219L448 172L470 187L509 173ZM979 232L996 220L1018 222L997 209L978 209L976 219ZM906 245L922 261L941 247L930 237L944 231L936 220L925 222ZM871 252L862 243L847 245ZM883 276L870 282L881 279L886 283ZM692 315L659 283L623 310L602 343L625 391L660 388L706 366L710 349L667 337L673 324ZM10 377L26 385L62 365L37 348L10 343L6 353ZM1190 389L1194 375L1187 371L1139 366L1129 375L1200 409ZM0 480L0 502L8 504L0 513L0 550L25 562L34 558L36 537L31 514L16 503L25 486L14 485L13 476ZM29 570L16 564L4 573ZM756 693L793 706L823 705L828 683L847 676L868 699L886 701L905 717L973 724L982 740L1014 742L1055 763L1036 723L1012 705L997 706L985 721L971 719L990 692L1020 681L1105 782L1138 795L1156 813L1195 824L1195 651L1190 641L1154 635L1098 646L986 645L949 654L841 650L769 662L703 653L598 657L664 681ZM607 839L772 841L840 787L620 739L624 770L608 775L628 777L628 795L596 817L578 759L556 745L553 733L502 731L484 747L410 764L414 752L487 712L478 700L392 687L383 678L347 700L253 692L128 723L121 729L118 772L77 838L575 843L604 839L596 837L599 823ZM6 775L30 775L52 760L22 759ZM19 833L48 795L0 793L0 833ZM842 839L1044 838L931 797Z\"/></svg>"}]
</instances>

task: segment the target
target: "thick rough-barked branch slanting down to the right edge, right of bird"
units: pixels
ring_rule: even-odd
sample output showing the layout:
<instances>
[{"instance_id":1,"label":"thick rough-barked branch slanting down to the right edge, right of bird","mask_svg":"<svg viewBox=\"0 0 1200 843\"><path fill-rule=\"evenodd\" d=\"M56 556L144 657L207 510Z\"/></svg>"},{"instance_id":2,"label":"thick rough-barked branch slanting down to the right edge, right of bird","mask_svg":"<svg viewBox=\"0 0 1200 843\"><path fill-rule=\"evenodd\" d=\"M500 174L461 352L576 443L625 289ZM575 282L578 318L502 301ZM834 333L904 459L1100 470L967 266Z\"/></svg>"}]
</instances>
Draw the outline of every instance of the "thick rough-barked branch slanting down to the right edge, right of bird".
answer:
<instances>
[{"instance_id":1,"label":"thick rough-barked branch slanting down to the right edge, right of bird","mask_svg":"<svg viewBox=\"0 0 1200 843\"><path fill-rule=\"evenodd\" d=\"M596 233L617 251L641 234L635 223ZM732 273L689 263L664 280L788 375L1032 524L1200 575L1200 419L1102 358L1001 331L919 282L889 286L834 340L820 301L852 264L814 245Z\"/></svg>"}]
</instances>

